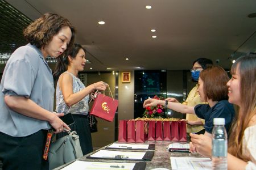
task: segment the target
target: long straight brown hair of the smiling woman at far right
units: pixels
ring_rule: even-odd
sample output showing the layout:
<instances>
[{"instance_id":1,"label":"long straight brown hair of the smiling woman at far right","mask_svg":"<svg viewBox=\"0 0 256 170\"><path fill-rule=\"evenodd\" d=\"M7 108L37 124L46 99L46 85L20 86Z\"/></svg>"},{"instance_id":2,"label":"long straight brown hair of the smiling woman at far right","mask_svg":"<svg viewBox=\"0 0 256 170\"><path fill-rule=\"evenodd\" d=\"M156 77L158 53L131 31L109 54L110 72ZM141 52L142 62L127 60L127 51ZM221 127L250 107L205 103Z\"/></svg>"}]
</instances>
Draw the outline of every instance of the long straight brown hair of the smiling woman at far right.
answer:
<instances>
[{"instance_id":1,"label":"long straight brown hair of the smiling woman at far right","mask_svg":"<svg viewBox=\"0 0 256 170\"><path fill-rule=\"evenodd\" d=\"M240 101L235 121L229 138L228 152L237 158L248 161L243 155L243 134L251 118L256 114L256 55L240 57L232 65L231 74L240 73Z\"/></svg>"}]
</instances>

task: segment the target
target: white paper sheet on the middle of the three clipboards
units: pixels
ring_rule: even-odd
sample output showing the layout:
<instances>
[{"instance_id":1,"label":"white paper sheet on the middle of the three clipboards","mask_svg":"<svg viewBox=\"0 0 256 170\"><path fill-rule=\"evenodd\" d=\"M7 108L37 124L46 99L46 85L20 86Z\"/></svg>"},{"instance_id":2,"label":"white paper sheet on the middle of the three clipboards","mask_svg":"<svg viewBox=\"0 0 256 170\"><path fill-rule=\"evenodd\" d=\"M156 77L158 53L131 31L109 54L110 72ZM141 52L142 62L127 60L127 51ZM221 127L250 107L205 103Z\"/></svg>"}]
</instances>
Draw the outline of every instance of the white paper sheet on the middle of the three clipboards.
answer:
<instances>
[{"instance_id":1,"label":"white paper sheet on the middle of the three clipboards","mask_svg":"<svg viewBox=\"0 0 256 170\"><path fill-rule=\"evenodd\" d=\"M142 160L146 152L122 152L122 151L112 151L112 150L100 150L92 155L91 157L96 158L115 158L117 155L122 155L123 159L140 159Z\"/></svg>"}]
</instances>

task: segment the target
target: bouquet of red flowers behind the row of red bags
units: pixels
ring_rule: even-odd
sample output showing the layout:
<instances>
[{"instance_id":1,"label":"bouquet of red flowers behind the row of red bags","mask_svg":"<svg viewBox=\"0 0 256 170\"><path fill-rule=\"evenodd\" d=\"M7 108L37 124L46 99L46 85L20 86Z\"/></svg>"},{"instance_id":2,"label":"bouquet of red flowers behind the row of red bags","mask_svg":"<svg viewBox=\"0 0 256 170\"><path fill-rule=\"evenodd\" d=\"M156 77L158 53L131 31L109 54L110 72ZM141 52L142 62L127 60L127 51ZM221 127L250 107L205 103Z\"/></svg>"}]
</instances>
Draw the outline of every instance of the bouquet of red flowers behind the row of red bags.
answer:
<instances>
[{"instance_id":1,"label":"bouquet of red flowers behind the row of red bags","mask_svg":"<svg viewBox=\"0 0 256 170\"><path fill-rule=\"evenodd\" d=\"M162 96L158 97L156 95L152 99L164 100ZM166 117L164 106L158 104L152 107L146 107L146 111L143 113L143 116L148 118Z\"/></svg>"}]
</instances>

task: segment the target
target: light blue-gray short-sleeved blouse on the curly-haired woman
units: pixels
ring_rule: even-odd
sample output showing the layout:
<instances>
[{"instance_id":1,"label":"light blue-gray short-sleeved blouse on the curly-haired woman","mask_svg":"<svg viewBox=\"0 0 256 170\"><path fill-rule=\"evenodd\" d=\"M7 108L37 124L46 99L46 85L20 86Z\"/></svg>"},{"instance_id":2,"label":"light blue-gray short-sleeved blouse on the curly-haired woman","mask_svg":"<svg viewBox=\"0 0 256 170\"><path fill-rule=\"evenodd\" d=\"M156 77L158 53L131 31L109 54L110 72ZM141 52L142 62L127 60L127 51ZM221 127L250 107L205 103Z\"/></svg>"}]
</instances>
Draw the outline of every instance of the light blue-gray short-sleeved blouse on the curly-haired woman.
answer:
<instances>
[{"instance_id":1,"label":"light blue-gray short-sleeved blouse on the curly-haired woman","mask_svg":"<svg viewBox=\"0 0 256 170\"><path fill-rule=\"evenodd\" d=\"M5 104L5 95L24 96L53 112L54 84L52 70L42 52L28 44L16 49L9 58L0 84L0 131L13 137L26 137L49 129L47 121L27 117Z\"/></svg>"}]
</instances>

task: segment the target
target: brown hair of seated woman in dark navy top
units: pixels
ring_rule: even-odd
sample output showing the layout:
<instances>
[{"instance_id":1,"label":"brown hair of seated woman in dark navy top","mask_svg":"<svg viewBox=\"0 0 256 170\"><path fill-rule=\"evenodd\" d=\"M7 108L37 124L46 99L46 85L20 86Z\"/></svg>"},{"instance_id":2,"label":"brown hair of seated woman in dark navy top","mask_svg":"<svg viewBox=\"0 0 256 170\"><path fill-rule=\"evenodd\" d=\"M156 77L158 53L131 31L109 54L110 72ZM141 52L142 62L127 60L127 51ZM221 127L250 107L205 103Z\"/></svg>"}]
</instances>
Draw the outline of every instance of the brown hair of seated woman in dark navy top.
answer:
<instances>
[{"instance_id":1,"label":"brown hair of seated woman in dark navy top","mask_svg":"<svg viewBox=\"0 0 256 170\"><path fill-rule=\"evenodd\" d=\"M204 82L205 101L212 99L213 101L228 100L228 87L226 83L229 76L220 66L208 66L200 73L200 78Z\"/></svg>"}]
</instances>

